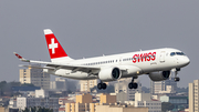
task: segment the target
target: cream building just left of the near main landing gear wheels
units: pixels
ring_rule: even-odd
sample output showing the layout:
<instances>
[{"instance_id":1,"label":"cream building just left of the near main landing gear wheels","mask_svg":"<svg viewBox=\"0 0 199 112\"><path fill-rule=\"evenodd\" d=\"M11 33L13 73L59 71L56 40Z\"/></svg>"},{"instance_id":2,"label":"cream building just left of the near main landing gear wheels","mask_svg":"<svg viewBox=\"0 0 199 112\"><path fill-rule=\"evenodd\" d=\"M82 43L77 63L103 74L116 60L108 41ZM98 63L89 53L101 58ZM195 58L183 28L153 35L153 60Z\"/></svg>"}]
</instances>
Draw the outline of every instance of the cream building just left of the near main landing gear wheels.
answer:
<instances>
[{"instance_id":1,"label":"cream building just left of the near main landing gear wheels","mask_svg":"<svg viewBox=\"0 0 199 112\"><path fill-rule=\"evenodd\" d=\"M96 79L96 80L81 80L80 84L81 84L81 92L91 92L91 89L96 86L98 83Z\"/></svg>"}]
</instances>

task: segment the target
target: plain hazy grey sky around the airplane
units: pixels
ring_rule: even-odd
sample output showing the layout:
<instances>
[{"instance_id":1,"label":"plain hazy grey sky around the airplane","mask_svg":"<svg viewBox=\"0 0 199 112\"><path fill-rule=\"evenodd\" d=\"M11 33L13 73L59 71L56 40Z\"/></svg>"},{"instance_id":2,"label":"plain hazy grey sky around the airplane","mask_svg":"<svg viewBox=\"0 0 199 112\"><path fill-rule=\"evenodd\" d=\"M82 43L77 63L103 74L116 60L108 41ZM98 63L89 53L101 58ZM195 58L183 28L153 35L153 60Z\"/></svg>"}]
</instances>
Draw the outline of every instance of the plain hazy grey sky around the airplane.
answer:
<instances>
[{"instance_id":1,"label":"plain hazy grey sky around the airplane","mask_svg":"<svg viewBox=\"0 0 199 112\"><path fill-rule=\"evenodd\" d=\"M198 1L2 1L0 4L1 81L18 81L13 51L50 61L43 29L55 32L71 58L95 57L154 48L177 48L190 59L178 86L198 79ZM48 7L51 6L51 7ZM103 44L103 45L102 45ZM7 47L7 48L6 48ZM6 48L6 49L4 49ZM11 68L11 70L10 70ZM150 79L139 77L144 86Z\"/></svg>"}]
</instances>

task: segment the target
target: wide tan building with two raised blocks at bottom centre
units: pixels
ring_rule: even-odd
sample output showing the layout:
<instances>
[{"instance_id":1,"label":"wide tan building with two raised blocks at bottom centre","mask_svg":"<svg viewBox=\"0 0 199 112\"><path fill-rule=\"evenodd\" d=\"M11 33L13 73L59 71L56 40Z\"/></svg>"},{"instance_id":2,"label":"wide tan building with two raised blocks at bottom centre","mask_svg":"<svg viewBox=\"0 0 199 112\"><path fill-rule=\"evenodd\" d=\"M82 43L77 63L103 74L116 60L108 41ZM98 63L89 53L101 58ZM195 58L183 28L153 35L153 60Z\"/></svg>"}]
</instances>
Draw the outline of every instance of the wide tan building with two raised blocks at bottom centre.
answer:
<instances>
[{"instance_id":1,"label":"wide tan building with two raised blocks at bottom centre","mask_svg":"<svg viewBox=\"0 0 199 112\"><path fill-rule=\"evenodd\" d=\"M91 94L76 95L76 103L65 103L65 110L60 112L148 112L148 108L116 103L116 95L101 94L100 98L101 103L94 103Z\"/></svg>"}]
</instances>

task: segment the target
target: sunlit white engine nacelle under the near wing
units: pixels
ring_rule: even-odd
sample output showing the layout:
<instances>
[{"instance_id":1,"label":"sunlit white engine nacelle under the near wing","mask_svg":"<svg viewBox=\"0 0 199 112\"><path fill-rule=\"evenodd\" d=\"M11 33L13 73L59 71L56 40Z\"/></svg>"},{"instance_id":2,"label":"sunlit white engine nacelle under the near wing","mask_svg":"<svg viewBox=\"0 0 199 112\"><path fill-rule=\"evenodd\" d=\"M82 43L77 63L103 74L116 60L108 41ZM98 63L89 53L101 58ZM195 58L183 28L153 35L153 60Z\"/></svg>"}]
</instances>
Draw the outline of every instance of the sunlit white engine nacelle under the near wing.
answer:
<instances>
[{"instance_id":1,"label":"sunlit white engine nacelle under the near wing","mask_svg":"<svg viewBox=\"0 0 199 112\"><path fill-rule=\"evenodd\" d=\"M100 71L98 78L102 81L115 81L122 77L122 72L118 68L104 68Z\"/></svg>"}]
</instances>

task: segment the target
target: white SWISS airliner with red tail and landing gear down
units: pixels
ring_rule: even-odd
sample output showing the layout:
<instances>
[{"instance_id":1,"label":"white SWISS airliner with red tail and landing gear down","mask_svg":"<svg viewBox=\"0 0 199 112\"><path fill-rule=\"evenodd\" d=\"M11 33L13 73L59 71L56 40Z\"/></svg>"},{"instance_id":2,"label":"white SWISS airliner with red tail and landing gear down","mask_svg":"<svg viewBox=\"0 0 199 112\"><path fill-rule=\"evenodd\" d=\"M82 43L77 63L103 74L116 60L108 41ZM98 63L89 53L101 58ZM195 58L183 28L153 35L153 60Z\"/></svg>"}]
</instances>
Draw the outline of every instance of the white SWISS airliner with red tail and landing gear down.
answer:
<instances>
[{"instance_id":1,"label":"white SWISS airliner with red tail and landing gear down","mask_svg":"<svg viewBox=\"0 0 199 112\"><path fill-rule=\"evenodd\" d=\"M106 83L122 78L132 78L129 89L137 89L134 81L142 74L147 74L153 81L164 81L175 72L175 81L181 68L190 63L189 58L180 50L172 48L153 49L121 54L103 55L74 60L64 51L54 33L44 29L44 35L51 58L51 62L34 61L14 54L23 62L45 64L44 67L31 65L43 69L43 72L69 79L94 80L100 79L97 89L106 89ZM30 65L22 65L29 68Z\"/></svg>"}]
</instances>

